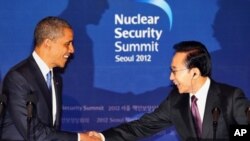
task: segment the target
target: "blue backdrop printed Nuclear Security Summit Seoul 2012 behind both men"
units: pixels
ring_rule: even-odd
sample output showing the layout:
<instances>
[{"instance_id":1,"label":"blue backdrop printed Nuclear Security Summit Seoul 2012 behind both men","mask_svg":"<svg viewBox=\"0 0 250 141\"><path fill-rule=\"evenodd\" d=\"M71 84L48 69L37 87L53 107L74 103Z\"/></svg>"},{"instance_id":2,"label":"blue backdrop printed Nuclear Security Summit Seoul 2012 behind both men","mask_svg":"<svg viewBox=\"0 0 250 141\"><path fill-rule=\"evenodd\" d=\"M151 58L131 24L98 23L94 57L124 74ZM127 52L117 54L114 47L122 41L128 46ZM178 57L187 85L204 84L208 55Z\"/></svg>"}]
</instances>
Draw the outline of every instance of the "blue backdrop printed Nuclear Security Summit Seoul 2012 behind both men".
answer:
<instances>
[{"instance_id":1,"label":"blue backdrop printed Nuclear Security Summit Seoul 2012 behind both men","mask_svg":"<svg viewBox=\"0 0 250 141\"><path fill-rule=\"evenodd\" d=\"M32 51L43 17L68 20L63 130L104 130L151 112L170 90L173 44L199 40L213 78L250 97L250 0L0 0L0 80ZM178 140L174 128L145 140Z\"/></svg>"}]
</instances>

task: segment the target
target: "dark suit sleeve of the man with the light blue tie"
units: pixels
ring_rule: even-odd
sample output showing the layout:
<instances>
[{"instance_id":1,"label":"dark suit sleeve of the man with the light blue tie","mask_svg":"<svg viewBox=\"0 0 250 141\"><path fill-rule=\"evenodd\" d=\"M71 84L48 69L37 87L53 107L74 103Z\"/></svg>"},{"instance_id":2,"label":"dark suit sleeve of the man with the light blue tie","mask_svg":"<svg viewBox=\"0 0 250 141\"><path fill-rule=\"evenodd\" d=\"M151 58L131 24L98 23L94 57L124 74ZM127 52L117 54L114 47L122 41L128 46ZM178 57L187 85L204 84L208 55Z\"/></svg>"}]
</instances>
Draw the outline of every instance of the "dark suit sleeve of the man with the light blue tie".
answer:
<instances>
[{"instance_id":1,"label":"dark suit sleeve of the man with the light blue tie","mask_svg":"<svg viewBox=\"0 0 250 141\"><path fill-rule=\"evenodd\" d=\"M27 96L31 92L29 83L25 76L10 71L3 83L4 92L7 94L7 111L11 117L12 124L15 124L18 132L27 140ZM60 132L41 122L39 117L34 116L31 122L30 135L35 137L36 141L60 140L77 141L77 134L69 132Z\"/></svg>"}]
</instances>

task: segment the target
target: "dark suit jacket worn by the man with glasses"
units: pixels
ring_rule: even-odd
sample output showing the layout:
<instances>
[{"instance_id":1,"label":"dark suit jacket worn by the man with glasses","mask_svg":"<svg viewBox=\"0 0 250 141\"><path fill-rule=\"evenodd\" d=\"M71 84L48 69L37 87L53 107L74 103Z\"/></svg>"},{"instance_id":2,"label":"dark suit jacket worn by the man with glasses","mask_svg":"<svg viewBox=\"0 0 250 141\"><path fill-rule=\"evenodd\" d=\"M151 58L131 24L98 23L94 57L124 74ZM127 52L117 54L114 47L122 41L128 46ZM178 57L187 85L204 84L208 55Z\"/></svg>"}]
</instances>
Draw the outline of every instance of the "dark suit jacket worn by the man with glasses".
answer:
<instances>
[{"instance_id":1,"label":"dark suit jacket worn by the man with glasses","mask_svg":"<svg viewBox=\"0 0 250 141\"><path fill-rule=\"evenodd\" d=\"M217 106L221 114L218 119L217 139L229 139L230 125L247 124L245 108L247 98L235 87L211 81L207 95L202 139L213 139L212 109ZM174 125L183 141L197 140L189 94L179 94L174 88L170 95L154 112L145 114L140 119L103 131L106 141L135 141L150 136Z\"/></svg>"}]
</instances>

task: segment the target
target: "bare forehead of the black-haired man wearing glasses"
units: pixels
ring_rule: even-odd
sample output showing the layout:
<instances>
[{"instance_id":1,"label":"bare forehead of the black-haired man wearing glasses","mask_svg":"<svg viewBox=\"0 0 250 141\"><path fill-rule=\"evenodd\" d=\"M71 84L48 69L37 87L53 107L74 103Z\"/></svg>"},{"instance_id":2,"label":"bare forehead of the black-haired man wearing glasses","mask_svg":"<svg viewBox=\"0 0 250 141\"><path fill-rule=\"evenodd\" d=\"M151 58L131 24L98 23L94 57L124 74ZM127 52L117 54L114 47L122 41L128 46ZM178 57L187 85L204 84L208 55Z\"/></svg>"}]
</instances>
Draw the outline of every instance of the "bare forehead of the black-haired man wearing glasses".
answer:
<instances>
[{"instance_id":1,"label":"bare forehead of the black-haired man wearing glasses","mask_svg":"<svg viewBox=\"0 0 250 141\"><path fill-rule=\"evenodd\" d=\"M186 53L177 52L173 56L171 67L172 68L179 68L185 66L184 60L186 59Z\"/></svg>"}]
</instances>

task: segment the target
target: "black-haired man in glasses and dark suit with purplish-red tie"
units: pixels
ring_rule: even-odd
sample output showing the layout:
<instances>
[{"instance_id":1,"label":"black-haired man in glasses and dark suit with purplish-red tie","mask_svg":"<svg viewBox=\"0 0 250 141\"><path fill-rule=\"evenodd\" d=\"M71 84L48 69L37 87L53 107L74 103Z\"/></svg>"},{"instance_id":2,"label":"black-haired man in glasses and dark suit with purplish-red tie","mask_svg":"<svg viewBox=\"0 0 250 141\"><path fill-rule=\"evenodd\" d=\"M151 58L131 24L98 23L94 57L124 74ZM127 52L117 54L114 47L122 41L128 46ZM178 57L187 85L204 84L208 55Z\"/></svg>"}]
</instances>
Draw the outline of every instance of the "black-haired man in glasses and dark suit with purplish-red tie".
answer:
<instances>
[{"instance_id":1,"label":"black-haired man in glasses and dark suit with purplish-red tie","mask_svg":"<svg viewBox=\"0 0 250 141\"><path fill-rule=\"evenodd\" d=\"M206 47L183 41L174 49L170 80L175 87L168 97L152 113L103 131L105 141L135 141L170 126L183 141L229 140L230 125L247 124L247 98L239 88L211 79Z\"/></svg>"}]
</instances>

